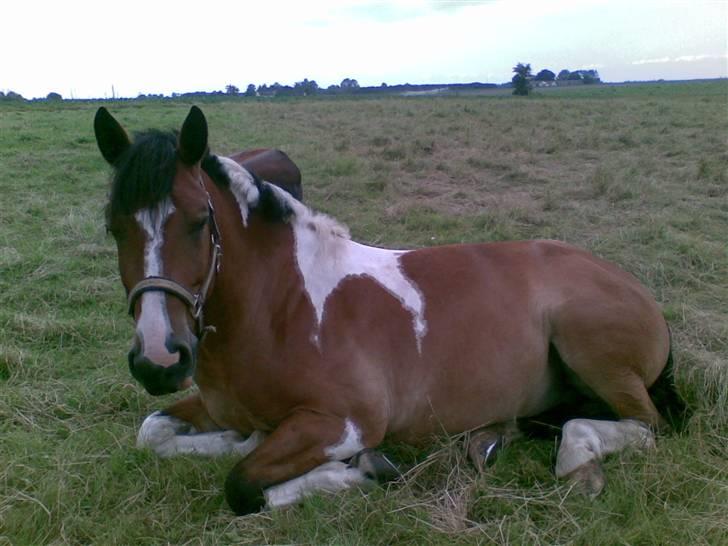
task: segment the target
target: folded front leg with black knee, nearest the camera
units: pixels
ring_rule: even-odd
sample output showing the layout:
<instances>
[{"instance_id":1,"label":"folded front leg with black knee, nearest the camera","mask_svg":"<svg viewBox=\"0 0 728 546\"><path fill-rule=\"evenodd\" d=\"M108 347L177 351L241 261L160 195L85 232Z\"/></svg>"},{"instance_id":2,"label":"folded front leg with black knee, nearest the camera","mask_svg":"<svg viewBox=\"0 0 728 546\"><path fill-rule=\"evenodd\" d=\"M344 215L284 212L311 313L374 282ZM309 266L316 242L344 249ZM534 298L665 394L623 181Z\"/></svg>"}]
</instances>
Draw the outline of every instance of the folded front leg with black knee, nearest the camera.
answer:
<instances>
[{"instance_id":1,"label":"folded front leg with black knee, nearest the camera","mask_svg":"<svg viewBox=\"0 0 728 546\"><path fill-rule=\"evenodd\" d=\"M363 465L342 461L379 443L383 435L365 434L350 419L299 410L232 469L225 497L243 515L266 503L277 507L298 502L314 491L368 486L375 480Z\"/></svg>"}]
</instances>

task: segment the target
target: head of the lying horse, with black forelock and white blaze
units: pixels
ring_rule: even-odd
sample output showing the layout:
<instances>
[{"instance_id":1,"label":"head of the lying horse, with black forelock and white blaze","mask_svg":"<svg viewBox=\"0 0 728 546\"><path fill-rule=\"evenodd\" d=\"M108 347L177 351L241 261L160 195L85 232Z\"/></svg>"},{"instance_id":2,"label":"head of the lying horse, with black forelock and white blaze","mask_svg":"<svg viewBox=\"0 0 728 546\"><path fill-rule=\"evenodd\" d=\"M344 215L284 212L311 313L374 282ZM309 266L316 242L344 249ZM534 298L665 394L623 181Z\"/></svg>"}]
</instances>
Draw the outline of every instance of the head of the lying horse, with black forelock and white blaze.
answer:
<instances>
[{"instance_id":1,"label":"head of the lying horse, with black forelock and white blaze","mask_svg":"<svg viewBox=\"0 0 728 546\"><path fill-rule=\"evenodd\" d=\"M175 392L192 383L202 305L219 260L200 166L207 122L192 107L179 135L148 131L131 142L101 107L94 129L114 168L106 217L136 322L129 369L150 394Z\"/></svg>"}]
</instances>

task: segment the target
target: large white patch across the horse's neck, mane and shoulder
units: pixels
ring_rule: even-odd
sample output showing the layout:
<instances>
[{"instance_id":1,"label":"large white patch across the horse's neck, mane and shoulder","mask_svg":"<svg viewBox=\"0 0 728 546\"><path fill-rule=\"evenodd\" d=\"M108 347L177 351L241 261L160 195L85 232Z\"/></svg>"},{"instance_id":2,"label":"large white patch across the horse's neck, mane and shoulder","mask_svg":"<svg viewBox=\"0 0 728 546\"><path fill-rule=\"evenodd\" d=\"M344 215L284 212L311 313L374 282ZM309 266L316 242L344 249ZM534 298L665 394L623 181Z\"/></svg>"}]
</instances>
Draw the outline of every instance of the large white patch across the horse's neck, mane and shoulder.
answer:
<instances>
[{"instance_id":1,"label":"large white patch across the horse's neck, mane and shoulder","mask_svg":"<svg viewBox=\"0 0 728 546\"><path fill-rule=\"evenodd\" d=\"M243 223L259 192L248 171L229 158L219 158L230 178ZM268 184L264 182L264 184ZM295 238L295 256L303 277L304 288L316 314L311 340L320 343L319 331L324 320L326 300L349 277L368 277L394 296L412 315L417 349L427 333L425 300L419 288L402 271L402 250L387 250L355 243L348 230L325 214L312 212L288 192L271 185L279 199L293 210L291 224Z\"/></svg>"}]
</instances>

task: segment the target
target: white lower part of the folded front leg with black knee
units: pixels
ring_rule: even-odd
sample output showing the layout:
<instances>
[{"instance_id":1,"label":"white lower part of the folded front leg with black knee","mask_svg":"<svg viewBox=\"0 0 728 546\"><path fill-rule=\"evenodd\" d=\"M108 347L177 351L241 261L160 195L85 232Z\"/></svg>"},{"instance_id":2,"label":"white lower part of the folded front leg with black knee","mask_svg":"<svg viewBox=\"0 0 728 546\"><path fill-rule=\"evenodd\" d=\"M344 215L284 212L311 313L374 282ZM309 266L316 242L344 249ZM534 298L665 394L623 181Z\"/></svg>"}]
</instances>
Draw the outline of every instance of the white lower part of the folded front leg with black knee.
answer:
<instances>
[{"instance_id":1,"label":"white lower part of the folded front leg with black knee","mask_svg":"<svg viewBox=\"0 0 728 546\"><path fill-rule=\"evenodd\" d=\"M340 461L332 461L314 468L310 472L265 490L269 508L288 506L318 491L335 493L355 485L372 486L376 482L364 476L358 468Z\"/></svg>"}]
</instances>

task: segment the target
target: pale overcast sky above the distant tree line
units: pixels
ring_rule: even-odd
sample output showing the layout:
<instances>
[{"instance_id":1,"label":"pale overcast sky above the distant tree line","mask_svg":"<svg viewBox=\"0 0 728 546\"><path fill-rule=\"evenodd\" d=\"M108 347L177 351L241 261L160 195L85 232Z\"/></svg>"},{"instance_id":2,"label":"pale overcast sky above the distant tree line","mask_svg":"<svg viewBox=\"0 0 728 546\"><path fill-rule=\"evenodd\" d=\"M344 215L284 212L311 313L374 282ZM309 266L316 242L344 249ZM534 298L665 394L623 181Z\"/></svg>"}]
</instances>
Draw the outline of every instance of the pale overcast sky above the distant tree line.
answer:
<instances>
[{"instance_id":1,"label":"pale overcast sky above the distant tree line","mask_svg":"<svg viewBox=\"0 0 728 546\"><path fill-rule=\"evenodd\" d=\"M0 15L0 91L25 98L501 83L518 62L728 77L728 0L21 0Z\"/></svg>"}]
</instances>

